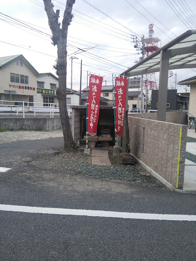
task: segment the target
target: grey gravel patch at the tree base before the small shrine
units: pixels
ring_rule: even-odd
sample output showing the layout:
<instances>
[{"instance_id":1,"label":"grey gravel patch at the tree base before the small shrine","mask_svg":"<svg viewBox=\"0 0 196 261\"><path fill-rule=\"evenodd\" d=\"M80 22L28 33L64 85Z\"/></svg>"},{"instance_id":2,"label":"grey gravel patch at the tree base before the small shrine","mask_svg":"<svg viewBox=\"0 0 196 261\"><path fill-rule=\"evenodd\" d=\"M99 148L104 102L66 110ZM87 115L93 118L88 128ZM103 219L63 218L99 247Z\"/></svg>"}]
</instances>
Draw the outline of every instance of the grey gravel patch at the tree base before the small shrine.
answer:
<instances>
[{"instance_id":1,"label":"grey gravel patch at the tree base before the small shrine","mask_svg":"<svg viewBox=\"0 0 196 261\"><path fill-rule=\"evenodd\" d=\"M50 153L50 152L48 152ZM159 180L151 176L138 164L135 166L117 164L112 151L109 151L112 166L92 165L91 155L84 154L83 150L64 152L63 150L53 151L52 155L45 155L41 160L31 164L41 169L53 169L54 171L70 173L79 176L91 176L104 178L106 180L125 180L130 184L166 188Z\"/></svg>"}]
</instances>

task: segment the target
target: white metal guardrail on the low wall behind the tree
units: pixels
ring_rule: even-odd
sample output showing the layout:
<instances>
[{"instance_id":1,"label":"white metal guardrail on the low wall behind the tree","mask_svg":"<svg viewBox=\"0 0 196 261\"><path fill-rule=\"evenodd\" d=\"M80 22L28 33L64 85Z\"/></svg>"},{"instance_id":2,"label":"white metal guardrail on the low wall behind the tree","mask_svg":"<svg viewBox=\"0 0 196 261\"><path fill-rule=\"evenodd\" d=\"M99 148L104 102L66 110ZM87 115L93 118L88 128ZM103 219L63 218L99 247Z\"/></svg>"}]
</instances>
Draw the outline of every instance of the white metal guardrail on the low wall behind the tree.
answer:
<instances>
[{"instance_id":1,"label":"white metal guardrail on the low wall behind the tree","mask_svg":"<svg viewBox=\"0 0 196 261\"><path fill-rule=\"evenodd\" d=\"M39 106L43 105L43 106ZM72 109L67 105L68 116L72 113ZM0 100L0 116L27 116L33 117L50 117L59 116L58 103L41 103L30 101L13 101Z\"/></svg>"}]
</instances>

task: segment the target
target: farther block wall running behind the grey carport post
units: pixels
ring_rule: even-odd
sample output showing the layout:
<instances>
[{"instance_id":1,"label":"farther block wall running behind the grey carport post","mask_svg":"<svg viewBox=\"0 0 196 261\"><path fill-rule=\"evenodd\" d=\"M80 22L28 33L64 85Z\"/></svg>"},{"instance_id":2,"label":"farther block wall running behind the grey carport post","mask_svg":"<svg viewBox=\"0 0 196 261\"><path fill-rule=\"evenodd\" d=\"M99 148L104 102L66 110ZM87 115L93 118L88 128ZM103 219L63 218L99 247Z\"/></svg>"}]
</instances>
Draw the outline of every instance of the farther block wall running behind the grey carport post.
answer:
<instances>
[{"instance_id":1,"label":"farther block wall running behind the grey carport post","mask_svg":"<svg viewBox=\"0 0 196 261\"><path fill-rule=\"evenodd\" d=\"M131 117L142 119L157 120L157 113L131 113ZM170 111L166 112L166 122L186 124L186 111Z\"/></svg>"}]
</instances>

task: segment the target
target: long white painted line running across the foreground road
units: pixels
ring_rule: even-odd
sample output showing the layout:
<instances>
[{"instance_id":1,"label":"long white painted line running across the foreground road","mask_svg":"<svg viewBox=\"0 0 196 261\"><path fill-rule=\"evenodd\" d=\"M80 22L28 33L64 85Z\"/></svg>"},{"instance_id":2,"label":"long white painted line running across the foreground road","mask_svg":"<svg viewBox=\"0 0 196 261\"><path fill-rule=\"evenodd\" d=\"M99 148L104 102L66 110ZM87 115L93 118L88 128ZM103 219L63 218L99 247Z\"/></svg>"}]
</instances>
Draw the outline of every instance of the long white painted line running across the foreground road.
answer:
<instances>
[{"instance_id":1,"label":"long white painted line running across the foreground road","mask_svg":"<svg viewBox=\"0 0 196 261\"><path fill-rule=\"evenodd\" d=\"M170 214L112 212L112 211L98 211L98 210L74 210L69 208L17 206L17 205L3 205L3 204L0 204L0 211L103 217L103 218L196 221L196 215L172 215L172 214L170 215Z\"/></svg>"}]
</instances>

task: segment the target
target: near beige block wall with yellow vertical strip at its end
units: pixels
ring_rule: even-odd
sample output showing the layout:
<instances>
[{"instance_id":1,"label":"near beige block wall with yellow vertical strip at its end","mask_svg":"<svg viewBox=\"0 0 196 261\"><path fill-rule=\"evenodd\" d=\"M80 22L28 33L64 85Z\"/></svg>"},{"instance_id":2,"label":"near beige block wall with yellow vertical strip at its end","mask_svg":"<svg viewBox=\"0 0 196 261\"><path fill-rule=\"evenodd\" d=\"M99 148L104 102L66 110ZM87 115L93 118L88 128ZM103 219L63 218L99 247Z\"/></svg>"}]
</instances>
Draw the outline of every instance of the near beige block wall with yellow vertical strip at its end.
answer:
<instances>
[{"instance_id":1,"label":"near beige block wall with yellow vertical strip at its end","mask_svg":"<svg viewBox=\"0 0 196 261\"><path fill-rule=\"evenodd\" d=\"M128 117L130 150L173 188L183 188L187 126Z\"/></svg>"}]
</instances>

